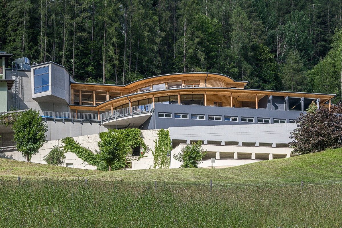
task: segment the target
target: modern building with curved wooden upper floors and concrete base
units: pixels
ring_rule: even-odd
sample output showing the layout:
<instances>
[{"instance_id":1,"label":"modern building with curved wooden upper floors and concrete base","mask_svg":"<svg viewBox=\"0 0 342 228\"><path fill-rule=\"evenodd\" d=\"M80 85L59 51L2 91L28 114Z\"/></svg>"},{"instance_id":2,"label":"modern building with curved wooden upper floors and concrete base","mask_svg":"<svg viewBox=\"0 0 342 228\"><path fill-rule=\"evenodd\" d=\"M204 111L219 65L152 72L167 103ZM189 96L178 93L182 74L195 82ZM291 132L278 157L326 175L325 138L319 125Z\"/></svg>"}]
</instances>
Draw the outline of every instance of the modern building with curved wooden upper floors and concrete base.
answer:
<instances>
[{"instance_id":1,"label":"modern building with curved wooden upper floors and concrete base","mask_svg":"<svg viewBox=\"0 0 342 228\"><path fill-rule=\"evenodd\" d=\"M271 159L273 153L290 156L287 143L289 133L295 128L294 120L312 102L319 108L329 108L335 96L248 89L247 81L207 72L160 75L126 85L79 83L56 63L30 64L29 59L20 58L12 63L12 68L6 68L11 54L1 55L0 110L9 111L13 107L39 110L48 123L47 139L51 142L58 144L66 136L95 135L109 128L139 128L155 139L156 130L170 129L173 147L178 151L181 147L178 145L199 139L205 145L216 145L215 158L226 158L218 165L222 167L240 164L237 160L229 162L234 159ZM13 142L9 145L13 133L4 129L0 130L2 147L13 147ZM245 133L237 137L242 129ZM279 129L284 131L281 133ZM177 131L188 133L173 133ZM153 148L153 140L150 141L148 146ZM265 147L256 149L265 155L260 157L259 152L253 153L247 147ZM233 152L233 157L216 154L221 150ZM239 153L245 155L239 157ZM208 153L208 156L214 155ZM148 168L151 159L134 161L132 168Z\"/></svg>"}]
</instances>

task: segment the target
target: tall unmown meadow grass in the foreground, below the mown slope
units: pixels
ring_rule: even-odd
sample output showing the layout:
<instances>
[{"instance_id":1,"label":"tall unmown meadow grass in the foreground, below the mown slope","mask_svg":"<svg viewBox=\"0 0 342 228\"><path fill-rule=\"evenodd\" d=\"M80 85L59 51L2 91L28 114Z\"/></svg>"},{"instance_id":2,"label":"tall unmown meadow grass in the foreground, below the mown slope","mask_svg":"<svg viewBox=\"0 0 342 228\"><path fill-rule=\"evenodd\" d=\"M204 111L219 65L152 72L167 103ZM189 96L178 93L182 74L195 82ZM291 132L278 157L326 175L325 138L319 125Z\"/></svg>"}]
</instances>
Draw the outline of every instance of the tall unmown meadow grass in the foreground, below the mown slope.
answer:
<instances>
[{"instance_id":1,"label":"tall unmown meadow grass in the foreground, below the mown slope","mask_svg":"<svg viewBox=\"0 0 342 228\"><path fill-rule=\"evenodd\" d=\"M0 227L341 227L342 185L0 180Z\"/></svg>"}]
</instances>

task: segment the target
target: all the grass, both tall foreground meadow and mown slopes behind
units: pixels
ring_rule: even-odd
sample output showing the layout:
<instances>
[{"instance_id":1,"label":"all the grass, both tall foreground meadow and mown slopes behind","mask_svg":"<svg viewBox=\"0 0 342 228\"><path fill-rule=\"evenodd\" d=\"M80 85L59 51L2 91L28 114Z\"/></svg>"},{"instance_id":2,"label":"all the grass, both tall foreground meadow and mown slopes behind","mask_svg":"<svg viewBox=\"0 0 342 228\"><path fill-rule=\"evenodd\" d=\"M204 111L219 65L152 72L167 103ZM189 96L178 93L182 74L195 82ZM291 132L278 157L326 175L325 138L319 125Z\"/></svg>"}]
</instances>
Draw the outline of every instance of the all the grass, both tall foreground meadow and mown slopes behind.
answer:
<instances>
[{"instance_id":1,"label":"all the grass, both tall foreground meadow and mown slopes behind","mask_svg":"<svg viewBox=\"0 0 342 228\"><path fill-rule=\"evenodd\" d=\"M0 159L0 228L341 228L341 215L342 149L226 169L102 172Z\"/></svg>"}]
</instances>

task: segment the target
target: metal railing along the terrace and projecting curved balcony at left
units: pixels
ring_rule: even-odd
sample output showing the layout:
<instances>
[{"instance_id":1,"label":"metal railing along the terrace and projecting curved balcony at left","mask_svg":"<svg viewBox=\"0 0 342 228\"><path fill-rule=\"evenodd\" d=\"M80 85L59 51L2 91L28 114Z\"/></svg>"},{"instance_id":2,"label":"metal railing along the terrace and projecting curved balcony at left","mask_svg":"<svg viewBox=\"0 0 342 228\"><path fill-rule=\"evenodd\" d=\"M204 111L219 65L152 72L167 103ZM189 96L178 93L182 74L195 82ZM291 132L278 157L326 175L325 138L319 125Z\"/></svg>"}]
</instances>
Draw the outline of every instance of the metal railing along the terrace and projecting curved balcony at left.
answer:
<instances>
[{"instance_id":1,"label":"metal railing along the terrace and projecting curved balcony at left","mask_svg":"<svg viewBox=\"0 0 342 228\"><path fill-rule=\"evenodd\" d=\"M82 112L53 112L53 111L42 111L43 115L41 117L46 121L47 119L53 119L54 121L57 120L71 120L73 121L80 121L84 122L87 121L89 123L91 122L98 122L102 123L105 121L109 121L111 119L118 119L118 118L124 118L127 116L136 116L141 115L144 113L151 113L153 112L153 103L148 105L138 105L133 107L127 107L127 108L120 108L113 110L113 113L111 111L104 112L101 114L96 113L82 113Z\"/></svg>"}]
</instances>

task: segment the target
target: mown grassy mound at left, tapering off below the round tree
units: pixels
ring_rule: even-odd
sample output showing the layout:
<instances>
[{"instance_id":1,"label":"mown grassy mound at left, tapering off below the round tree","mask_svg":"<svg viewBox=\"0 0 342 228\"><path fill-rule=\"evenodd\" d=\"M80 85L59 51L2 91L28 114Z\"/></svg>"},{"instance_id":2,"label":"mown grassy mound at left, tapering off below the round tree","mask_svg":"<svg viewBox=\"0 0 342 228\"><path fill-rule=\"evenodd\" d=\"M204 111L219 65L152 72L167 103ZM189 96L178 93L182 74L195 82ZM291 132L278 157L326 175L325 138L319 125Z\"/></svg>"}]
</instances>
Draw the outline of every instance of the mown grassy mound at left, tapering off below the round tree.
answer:
<instances>
[{"instance_id":1,"label":"mown grassy mound at left, tapering off below the round tree","mask_svg":"<svg viewBox=\"0 0 342 228\"><path fill-rule=\"evenodd\" d=\"M84 177L102 173L98 170L83 170L62 166L28 163L0 158L0 175L5 177Z\"/></svg>"}]
</instances>

